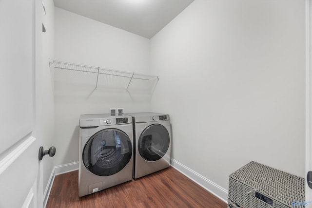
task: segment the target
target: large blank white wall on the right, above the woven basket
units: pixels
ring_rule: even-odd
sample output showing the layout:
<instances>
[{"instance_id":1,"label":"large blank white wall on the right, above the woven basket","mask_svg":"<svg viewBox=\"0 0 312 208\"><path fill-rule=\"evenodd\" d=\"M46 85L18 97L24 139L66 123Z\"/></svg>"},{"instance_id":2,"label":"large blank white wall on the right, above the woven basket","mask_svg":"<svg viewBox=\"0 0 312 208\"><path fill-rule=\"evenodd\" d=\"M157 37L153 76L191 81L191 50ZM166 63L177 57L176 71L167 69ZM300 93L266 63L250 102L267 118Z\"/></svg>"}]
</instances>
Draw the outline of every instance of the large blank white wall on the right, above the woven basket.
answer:
<instances>
[{"instance_id":1,"label":"large blank white wall on the right, above the woven basket","mask_svg":"<svg viewBox=\"0 0 312 208\"><path fill-rule=\"evenodd\" d=\"M305 176L304 0L195 0L151 39L172 157L228 189L254 160Z\"/></svg>"}]
</instances>

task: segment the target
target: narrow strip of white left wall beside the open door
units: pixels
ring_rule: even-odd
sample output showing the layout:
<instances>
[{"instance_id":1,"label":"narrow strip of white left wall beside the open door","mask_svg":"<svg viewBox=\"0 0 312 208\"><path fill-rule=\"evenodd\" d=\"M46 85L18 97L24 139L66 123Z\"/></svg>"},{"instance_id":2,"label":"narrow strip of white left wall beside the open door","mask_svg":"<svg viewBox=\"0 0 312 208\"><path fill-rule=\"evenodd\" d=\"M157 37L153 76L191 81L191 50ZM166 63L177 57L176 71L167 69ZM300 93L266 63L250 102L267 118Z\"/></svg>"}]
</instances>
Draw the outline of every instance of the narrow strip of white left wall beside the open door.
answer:
<instances>
[{"instance_id":1,"label":"narrow strip of white left wall beside the open door","mask_svg":"<svg viewBox=\"0 0 312 208\"><path fill-rule=\"evenodd\" d=\"M43 22L46 32L42 33L42 57L43 57L43 99L42 111L43 117L43 147L48 150L51 146L55 146L55 129L54 129L54 92L53 92L53 71L50 70L49 59L54 58L54 3L53 0L43 0L46 15ZM59 153L58 150L56 151ZM43 191L47 189L51 172L54 168L54 157L45 156L42 159L43 164Z\"/></svg>"}]
</instances>

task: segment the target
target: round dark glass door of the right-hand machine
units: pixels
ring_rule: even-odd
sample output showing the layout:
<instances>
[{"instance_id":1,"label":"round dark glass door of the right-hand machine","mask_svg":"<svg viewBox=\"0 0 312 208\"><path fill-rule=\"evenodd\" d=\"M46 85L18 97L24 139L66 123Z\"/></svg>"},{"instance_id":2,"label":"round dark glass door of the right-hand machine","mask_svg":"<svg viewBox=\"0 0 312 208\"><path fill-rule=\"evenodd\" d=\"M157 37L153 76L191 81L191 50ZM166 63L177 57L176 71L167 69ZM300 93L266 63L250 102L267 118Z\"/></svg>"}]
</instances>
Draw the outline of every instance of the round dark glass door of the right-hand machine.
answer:
<instances>
[{"instance_id":1,"label":"round dark glass door of the right-hand machine","mask_svg":"<svg viewBox=\"0 0 312 208\"><path fill-rule=\"evenodd\" d=\"M169 145L170 136L167 129L160 124L153 124L141 133L137 148L145 160L156 161L166 154Z\"/></svg>"}]
</instances>

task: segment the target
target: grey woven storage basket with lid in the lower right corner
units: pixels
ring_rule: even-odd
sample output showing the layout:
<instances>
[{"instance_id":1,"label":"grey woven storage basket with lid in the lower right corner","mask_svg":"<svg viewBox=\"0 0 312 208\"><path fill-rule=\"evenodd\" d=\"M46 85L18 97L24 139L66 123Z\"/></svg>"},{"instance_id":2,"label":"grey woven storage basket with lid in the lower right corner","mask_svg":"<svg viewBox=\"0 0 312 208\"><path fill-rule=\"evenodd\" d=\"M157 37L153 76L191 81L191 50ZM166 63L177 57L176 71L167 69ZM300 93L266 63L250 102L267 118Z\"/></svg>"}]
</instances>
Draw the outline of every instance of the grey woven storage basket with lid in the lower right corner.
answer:
<instances>
[{"instance_id":1,"label":"grey woven storage basket with lid in the lower right corner","mask_svg":"<svg viewBox=\"0 0 312 208\"><path fill-rule=\"evenodd\" d=\"M228 208L305 208L304 201L304 178L254 161L229 177Z\"/></svg>"}]
</instances>

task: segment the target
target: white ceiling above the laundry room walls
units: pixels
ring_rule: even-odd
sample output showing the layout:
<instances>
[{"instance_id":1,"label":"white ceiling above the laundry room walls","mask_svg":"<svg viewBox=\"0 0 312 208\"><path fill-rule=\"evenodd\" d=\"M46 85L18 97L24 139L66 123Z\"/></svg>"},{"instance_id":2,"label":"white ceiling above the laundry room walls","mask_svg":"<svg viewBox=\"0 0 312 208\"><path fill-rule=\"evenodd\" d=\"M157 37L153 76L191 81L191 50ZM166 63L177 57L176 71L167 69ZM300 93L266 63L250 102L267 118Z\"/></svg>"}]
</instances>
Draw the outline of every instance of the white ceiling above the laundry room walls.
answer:
<instances>
[{"instance_id":1,"label":"white ceiling above the laundry room walls","mask_svg":"<svg viewBox=\"0 0 312 208\"><path fill-rule=\"evenodd\" d=\"M152 38L194 0L54 0L61 9Z\"/></svg>"}]
</instances>

